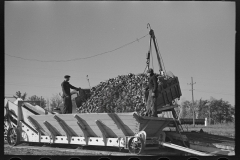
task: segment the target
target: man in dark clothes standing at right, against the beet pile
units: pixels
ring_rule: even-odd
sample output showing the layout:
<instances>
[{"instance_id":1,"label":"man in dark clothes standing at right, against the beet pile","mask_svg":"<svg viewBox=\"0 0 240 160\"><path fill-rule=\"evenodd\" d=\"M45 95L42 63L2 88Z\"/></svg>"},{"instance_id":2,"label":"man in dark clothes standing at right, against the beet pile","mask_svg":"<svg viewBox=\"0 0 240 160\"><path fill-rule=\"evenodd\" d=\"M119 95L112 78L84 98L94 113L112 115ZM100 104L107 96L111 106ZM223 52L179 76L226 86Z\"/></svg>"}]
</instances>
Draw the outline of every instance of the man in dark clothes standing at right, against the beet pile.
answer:
<instances>
[{"instance_id":1,"label":"man in dark clothes standing at right, against the beet pile","mask_svg":"<svg viewBox=\"0 0 240 160\"><path fill-rule=\"evenodd\" d=\"M147 111L145 116L157 117L157 106L156 106L156 100L158 97L157 77L153 73L152 68L148 69L147 76L149 77L149 80L148 80L148 86L145 88L145 90L147 91L149 89L149 93L148 93L148 99L147 99Z\"/></svg>"}]
</instances>

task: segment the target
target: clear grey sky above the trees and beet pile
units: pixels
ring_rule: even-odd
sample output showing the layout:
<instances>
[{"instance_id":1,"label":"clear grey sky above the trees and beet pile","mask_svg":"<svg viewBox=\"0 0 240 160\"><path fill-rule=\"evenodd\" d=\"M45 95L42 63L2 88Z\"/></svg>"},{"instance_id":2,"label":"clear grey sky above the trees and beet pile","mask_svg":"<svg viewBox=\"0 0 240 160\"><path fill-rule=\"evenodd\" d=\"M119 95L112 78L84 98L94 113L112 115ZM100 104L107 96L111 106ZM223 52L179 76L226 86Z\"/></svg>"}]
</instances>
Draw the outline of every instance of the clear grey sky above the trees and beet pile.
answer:
<instances>
[{"instance_id":1,"label":"clear grey sky above the trees and beet pile","mask_svg":"<svg viewBox=\"0 0 240 160\"><path fill-rule=\"evenodd\" d=\"M5 1L5 96L51 98L62 93L64 75L89 88L87 75L93 87L143 73L149 23L166 71L179 78L180 101L192 100L193 77L194 100L235 105L235 12L235 3L225 1Z\"/></svg>"}]
</instances>

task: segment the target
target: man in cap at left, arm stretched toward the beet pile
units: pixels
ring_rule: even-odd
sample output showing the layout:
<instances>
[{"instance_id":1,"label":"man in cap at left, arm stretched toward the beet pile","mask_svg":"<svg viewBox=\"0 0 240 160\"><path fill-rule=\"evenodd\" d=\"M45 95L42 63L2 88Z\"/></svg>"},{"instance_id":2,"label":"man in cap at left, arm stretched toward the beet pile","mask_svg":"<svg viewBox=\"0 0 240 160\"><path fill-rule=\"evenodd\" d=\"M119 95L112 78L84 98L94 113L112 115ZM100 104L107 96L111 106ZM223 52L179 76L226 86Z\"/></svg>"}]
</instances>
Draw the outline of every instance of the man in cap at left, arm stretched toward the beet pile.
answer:
<instances>
[{"instance_id":1,"label":"man in cap at left, arm stretched toward the beet pile","mask_svg":"<svg viewBox=\"0 0 240 160\"><path fill-rule=\"evenodd\" d=\"M63 109L62 114L72 113L72 99L70 88L79 91L80 88L72 86L68 81L70 80L70 76L64 76L65 80L62 82L62 91L63 91Z\"/></svg>"}]
</instances>

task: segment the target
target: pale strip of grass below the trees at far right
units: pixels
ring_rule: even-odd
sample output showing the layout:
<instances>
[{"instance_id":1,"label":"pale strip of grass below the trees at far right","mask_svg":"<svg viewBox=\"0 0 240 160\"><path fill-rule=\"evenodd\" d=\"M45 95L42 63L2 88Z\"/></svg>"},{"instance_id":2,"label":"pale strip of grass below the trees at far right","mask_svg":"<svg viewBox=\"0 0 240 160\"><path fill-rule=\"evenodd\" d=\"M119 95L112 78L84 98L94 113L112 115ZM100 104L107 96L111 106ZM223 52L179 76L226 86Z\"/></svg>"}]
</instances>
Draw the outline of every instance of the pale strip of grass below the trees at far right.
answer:
<instances>
[{"instance_id":1,"label":"pale strip of grass below the trees at far right","mask_svg":"<svg viewBox=\"0 0 240 160\"><path fill-rule=\"evenodd\" d=\"M226 123L226 124L214 124L214 125L182 125L184 131L197 131L199 132L202 129L204 132L214 135L228 136L231 138L235 137L235 124Z\"/></svg>"}]
</instances>

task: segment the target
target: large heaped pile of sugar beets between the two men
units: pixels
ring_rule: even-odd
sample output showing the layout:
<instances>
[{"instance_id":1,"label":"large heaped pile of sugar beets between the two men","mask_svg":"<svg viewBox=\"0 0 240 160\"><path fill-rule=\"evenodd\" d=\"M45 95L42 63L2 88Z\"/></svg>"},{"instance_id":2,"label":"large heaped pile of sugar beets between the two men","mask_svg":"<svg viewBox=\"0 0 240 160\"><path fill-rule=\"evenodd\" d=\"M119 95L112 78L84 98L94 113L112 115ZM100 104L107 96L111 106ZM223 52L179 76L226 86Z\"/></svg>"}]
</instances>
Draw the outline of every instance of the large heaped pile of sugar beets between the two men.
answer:
<instances>
[{"instance_id":1,"label":"large heaped pile of sugar beets between the two men","mask_svg":"<svg viewBox=\"0 0 240 160\"><path fill-rule=\"evenodd\" d=\"M162 82L160 76L158 84ZM100 82L90 90L91 96L77 108L79 113L122 113L137 112L143 115L146 111L148 92L146 74L132 73L119 75L105 82Z\"/></svg>"}]
</instances>

